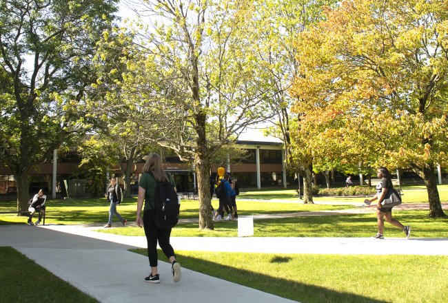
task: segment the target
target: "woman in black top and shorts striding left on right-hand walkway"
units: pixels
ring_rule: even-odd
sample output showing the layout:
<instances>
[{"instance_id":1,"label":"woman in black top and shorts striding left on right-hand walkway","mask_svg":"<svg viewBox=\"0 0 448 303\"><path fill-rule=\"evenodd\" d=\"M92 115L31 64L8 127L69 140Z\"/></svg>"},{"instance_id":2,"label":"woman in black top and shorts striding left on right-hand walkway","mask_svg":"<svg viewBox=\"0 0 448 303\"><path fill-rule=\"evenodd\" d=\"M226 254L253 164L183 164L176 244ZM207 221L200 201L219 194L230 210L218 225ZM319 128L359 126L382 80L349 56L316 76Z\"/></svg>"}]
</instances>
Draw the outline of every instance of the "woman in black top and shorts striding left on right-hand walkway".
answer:
<instances>
[{"instance_id":1,"label":"woman in black top and shorts striding left on right-hand walkway","mask_svg":"<svg viewBox=\"0 0 448 303\"><path fill-rule=\"evenodd\" d=\"M383 202L387 191L393 188L392 180L389 174L389 171L385 167L380 167L376 173L378 175L378 179L381 179L378 185L376 185L376 194L374 198L365 199L364 202L367 205L370 205L371 202L378 199L378 205L376 207L376 219L378 221L378 233L374 236L376 239L384 239L383 229L384 229L384 218L390 224L398 227L402 231L405 232L406 237L409 238L411 235L411 227L404 226L398 220L392 218L392 207L383 207L381 202Z\"/></svg>"}]
</instances>

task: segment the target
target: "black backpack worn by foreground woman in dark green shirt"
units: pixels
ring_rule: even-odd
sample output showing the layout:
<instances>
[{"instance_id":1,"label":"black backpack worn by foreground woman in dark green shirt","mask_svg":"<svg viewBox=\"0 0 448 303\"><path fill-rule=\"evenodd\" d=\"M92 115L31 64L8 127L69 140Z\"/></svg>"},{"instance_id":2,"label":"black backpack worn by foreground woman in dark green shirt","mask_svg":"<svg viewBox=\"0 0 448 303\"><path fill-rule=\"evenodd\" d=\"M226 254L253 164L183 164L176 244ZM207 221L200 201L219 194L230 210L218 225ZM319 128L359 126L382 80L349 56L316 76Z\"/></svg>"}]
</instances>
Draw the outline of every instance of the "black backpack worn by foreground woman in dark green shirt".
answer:
<instances>
[{"instance_id":1,"label":"black backpack worn by foreground woman in dark green shirt","mask_svg":"<svg viewBox=\"0 0 448 303\"><path fill-rule=\"evenodd\" d=\"M152 173L150 175L154 178ZM169 181L159 182L156 180L156 183L154 221L159 229L170 229L179 222L179 209L181 208L179 196Z\"/></svg>"}]
</instances>

